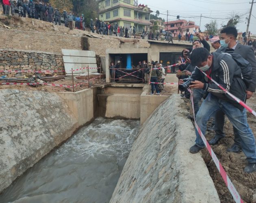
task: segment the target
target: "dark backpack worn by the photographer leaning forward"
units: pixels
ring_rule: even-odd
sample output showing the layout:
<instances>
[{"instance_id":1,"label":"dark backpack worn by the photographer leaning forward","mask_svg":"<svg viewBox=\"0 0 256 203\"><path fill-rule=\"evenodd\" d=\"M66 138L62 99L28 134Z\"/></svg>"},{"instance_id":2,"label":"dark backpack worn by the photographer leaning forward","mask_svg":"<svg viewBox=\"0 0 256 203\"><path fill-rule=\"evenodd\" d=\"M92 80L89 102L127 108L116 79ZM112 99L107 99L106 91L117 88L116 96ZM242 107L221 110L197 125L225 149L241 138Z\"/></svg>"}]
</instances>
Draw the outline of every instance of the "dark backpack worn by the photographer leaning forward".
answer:
<instances>
[{"instance_id":1,"label":"dark backpack worn by the photographer leaning forward","mask_svg":"<svg viewBox=\"0 0 256 203\"><path fill-rule=\"evenodd\" d=\"M240 54L221 53L219 56L221 56L222 54L227 54L231 56L233 60L236 62L236 64L241 68L241 71L242 71L241 78L245 83L246 88L248 88L249 84L252 82L252 65L247 60L245 60ZM220 61L222 57L219 58L219 56L218 56L218 59Z\"/></svg>"}]
</instances>

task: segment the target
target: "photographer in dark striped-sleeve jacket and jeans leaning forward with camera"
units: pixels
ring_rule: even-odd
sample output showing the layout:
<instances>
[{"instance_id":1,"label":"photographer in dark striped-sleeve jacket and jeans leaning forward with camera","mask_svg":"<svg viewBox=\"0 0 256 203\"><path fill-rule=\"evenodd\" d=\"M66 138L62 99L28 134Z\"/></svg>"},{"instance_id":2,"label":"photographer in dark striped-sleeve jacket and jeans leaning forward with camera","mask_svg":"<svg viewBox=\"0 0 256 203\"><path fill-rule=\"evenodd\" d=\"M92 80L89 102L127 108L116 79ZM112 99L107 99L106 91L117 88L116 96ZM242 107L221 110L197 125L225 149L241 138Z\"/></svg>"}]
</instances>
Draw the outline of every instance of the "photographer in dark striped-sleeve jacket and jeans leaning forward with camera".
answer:
<instances>
[{"instance_id":1,"label":"photographer in dark striped-sleeve jacket and jeans leaning forward with camera","mask_svg":"<svg viewBox=\"0 0 256 203\"><path fill-rule=\"evenodd\" d=\"M206 123L215 112L222 110L230 122L239 129L238 136L241 139L241 148L247 157L248 164L244 168L246 173L256 171L256 144L252 130L247 123L246 109L234 101L219 86L211 81L207 81L201 71L218 82L226 91L229 91L242 101L246 98L246 85L241 77L241 68L228 54L214 52L210 54L204 48L197 48L191 54L191 65L195 69L190 88L203 89L208 91L206 99L197 112L196 122L203 134L206 132ZM201 70L201 71L200 71ZM204 82L200 80L204 79ZM204 142L200 134L196 131L195 145L190 148L191 153L197 153L203 149Z\"/></svg>"}]
</instances>

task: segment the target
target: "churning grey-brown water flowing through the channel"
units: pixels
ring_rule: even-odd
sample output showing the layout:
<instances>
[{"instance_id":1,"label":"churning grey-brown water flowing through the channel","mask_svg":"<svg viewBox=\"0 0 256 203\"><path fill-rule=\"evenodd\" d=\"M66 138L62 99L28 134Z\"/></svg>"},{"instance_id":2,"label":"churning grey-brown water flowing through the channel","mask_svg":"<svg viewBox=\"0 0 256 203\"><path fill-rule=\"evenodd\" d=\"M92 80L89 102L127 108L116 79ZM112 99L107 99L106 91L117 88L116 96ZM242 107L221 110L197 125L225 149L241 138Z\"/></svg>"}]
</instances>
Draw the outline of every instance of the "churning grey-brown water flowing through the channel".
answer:
<instances>
[{"instance_id":1,"label":"churning grey-brown water flowing through the channel","mask_svg":"<svg viewBox=\"0 0 256 203\"><path fill-rule=\"evenodd\" d=\"M0 202L109 202L138 130L139 121L95 119L4 190Z\"/></svg>"}]
</instances>

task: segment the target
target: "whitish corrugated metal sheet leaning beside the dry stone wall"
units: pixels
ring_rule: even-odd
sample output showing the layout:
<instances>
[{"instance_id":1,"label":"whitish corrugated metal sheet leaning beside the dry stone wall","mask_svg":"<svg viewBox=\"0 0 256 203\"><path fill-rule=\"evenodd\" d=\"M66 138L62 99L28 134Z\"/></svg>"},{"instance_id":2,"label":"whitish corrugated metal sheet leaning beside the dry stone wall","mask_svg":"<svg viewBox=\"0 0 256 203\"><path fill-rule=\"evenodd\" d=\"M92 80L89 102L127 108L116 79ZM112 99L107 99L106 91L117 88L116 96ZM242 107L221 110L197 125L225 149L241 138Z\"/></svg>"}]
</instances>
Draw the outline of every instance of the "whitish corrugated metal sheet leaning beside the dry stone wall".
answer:
<instances>
[{"instance_id":1,"label":"whitish corrugated metal sheet leaning beside the dry stone wall","mask_svg":"<svg viewBox=\"0 0 256 203\"><path fill-rule=\"evenodd\" d=\"M71 75L71 69L80 69L84 67L97 68L96 56L94 51L82 50L61 50L63 55L63 62L66 75ZM95 73L98 69L89 69L89 73ZM79 73L87 73L87 69L74 71L74 75Z\"/></svg>"}]
</instances>

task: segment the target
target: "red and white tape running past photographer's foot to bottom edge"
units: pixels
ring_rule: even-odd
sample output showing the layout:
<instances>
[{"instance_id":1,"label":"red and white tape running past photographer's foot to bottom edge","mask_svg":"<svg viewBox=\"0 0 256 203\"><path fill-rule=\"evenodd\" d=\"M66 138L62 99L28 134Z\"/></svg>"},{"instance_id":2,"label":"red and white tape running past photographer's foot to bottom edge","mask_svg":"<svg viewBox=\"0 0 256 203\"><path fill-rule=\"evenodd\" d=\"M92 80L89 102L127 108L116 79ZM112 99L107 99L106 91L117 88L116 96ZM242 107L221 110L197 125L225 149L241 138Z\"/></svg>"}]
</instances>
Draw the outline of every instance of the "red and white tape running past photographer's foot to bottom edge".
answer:
<instances>
[{"instance_id":1,"label":"red and white tape running past photographer's foot to bottom edge","mask_svg":"<svg viewBox=\"0 0 256 203\"><path fill-rule=\"evenodd\" d=\"M191 102L192 102L192 108L193 108L193 114L194 114L194 120L195 120L195 110L194 110L194 102L193 102L193 92L189 89L189 91L191 92ZM218 168L219 173L221 174L221 177L223 178L226 186L228 186L228 190L230 191L232 197L234 198L234 201L236 203L243 203L243 200L241 199L239 193L236 191L236 188L234 187L234 185L232 184L231 180L229 179L226 171L224 170L223 166L221 165L221 163L219 162L217 156L215 155L215 153L213 152L213 149L210 147L209 143L207 142L204 134L202 133L202 131L200 130L200 128L198 127L196 121L195 121L195 128L197 130L197 132L200 134L204 145L206 146L208 152L210 153L210 156L213 158L213 161L215 163L215 165Z\"/></svg>"}]
</instances>

